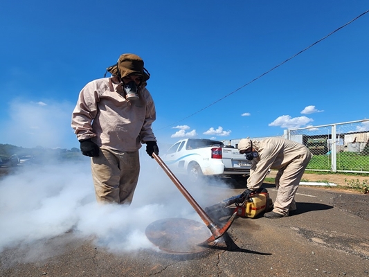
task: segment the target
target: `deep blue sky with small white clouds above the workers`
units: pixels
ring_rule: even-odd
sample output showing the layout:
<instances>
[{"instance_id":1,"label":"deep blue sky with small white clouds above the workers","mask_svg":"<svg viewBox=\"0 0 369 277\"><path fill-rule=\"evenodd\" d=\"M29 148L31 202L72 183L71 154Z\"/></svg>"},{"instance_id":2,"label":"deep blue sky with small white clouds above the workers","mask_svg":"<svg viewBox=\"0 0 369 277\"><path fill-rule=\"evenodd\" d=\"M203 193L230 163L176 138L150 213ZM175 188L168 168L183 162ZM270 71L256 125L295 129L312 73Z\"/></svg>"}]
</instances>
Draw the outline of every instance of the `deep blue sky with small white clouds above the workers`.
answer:
<instances>
[{"instance_id":1,"label":"deep blue sky with small white clouds above the workers","mask_svg":"<svg viewBox=\"0 0 369 277\"><path fill-rule=\"evenodd\" d=\"M1 1L0 143L78 148L78 93L123 53L150 71L159 143L368 118L369 13L251 82L368 9L354 0Z\"/></svg>"}]
</instances>

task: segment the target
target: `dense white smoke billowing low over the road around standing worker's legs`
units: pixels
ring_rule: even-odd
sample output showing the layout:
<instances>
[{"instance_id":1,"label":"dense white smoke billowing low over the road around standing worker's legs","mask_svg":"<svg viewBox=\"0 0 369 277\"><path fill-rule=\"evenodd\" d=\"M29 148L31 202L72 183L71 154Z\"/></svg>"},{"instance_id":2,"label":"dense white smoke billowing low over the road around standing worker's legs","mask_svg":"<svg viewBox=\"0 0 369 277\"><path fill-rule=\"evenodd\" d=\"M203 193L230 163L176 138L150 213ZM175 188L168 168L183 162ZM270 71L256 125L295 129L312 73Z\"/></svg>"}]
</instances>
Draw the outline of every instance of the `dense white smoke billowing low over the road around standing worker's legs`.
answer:
<instances>
[{"instance_id":1,"label":"dense white smoke billowing low over the road around standing worker's legs","mask_svg":"<svg viewBox=\"0 0 369 277\"><path fill-rule=\"evenodd\" d=\"M0 179L0 253L8 247L37 245L71 231L78 238L95 238L109 251L156 249L145 235L156 220L181 217L202 222L165 172L146 153L131 206L97 204L89 158L85 162L21 166ZM183 181L184 180L184 181ZM224 199L222 191L182 180L201 206ZM219 184L219 186L225 186ZM44 245L44 244L41 244ZM59 250L33 249L33 259L53 256ZM55 252L55 253L54 253ZM28 260L30 258L28 257Z\"/></svg>"}]
</instances>

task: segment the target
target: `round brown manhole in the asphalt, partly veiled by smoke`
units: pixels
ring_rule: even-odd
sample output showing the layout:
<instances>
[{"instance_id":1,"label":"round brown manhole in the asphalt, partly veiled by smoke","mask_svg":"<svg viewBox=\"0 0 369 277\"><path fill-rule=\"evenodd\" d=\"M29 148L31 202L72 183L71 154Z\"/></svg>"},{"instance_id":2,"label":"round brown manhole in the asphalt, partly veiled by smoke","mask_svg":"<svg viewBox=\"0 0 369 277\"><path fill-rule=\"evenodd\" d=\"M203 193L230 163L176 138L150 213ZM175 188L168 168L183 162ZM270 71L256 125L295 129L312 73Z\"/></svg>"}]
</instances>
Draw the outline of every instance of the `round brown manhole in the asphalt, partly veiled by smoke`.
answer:
<instances>
[{"instance_id":1,"label":"round brown manhole in the asphalt, partly veiled by smoke","mask_svg":"<svg viewBox=\"0 0 369 277\"><path fill-rule=\"evenodd\" d=\"M200 222L184 218L157 220L147 226L145 233L150 242L166 253L199 253L217 244L199 245L210 238L210 230Z\"/></svg>"}]
</instances>

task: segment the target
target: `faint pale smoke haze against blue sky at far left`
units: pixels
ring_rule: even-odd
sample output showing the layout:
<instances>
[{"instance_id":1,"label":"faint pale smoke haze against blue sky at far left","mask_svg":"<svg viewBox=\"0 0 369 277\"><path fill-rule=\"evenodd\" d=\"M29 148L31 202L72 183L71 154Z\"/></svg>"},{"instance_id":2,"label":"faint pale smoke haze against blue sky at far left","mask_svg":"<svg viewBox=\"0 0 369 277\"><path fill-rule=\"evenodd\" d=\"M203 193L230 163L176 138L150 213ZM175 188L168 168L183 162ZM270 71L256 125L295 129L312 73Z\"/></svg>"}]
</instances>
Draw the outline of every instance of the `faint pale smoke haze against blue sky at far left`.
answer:
<instances>
[{"instance_id":1,"label":"faint pale smoke haze against blue sky at far left","mask_svg":"<svg viewBox=\"0 0 369 277\"><path fill-rule=\"evenodd\" d=\"M38 145L45 148L78 147L71 128L73 108L69 102L12 100L10 120L0 125L1 142L24 148Z\"/></svg>"}]
</instances>

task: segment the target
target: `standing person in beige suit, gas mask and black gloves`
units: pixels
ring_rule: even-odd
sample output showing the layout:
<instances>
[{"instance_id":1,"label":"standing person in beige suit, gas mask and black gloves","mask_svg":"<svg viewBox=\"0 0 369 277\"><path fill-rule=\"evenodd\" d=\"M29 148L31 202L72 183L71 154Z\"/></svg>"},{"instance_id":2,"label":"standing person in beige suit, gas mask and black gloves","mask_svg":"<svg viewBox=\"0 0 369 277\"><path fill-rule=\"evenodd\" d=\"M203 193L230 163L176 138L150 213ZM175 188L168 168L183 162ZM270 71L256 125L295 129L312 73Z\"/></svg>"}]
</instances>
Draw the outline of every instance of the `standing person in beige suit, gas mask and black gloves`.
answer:
<instances>
[{"instance_id":1,"label":"standing person in beige suit, gas mask and black gloves","mask_svg":"<svg viewBox=\"0 0 369 277\"><path fill-rule=\"evenodd\" d=\"M138 182L138 150L159 154L152 123L154 101L145 88L150 74L141 57L120 55L107 71L110 78L93 80L80 91L72 115L82 154L91 157L96 199L131 204Z\"/></svg>"}]
</instances>

